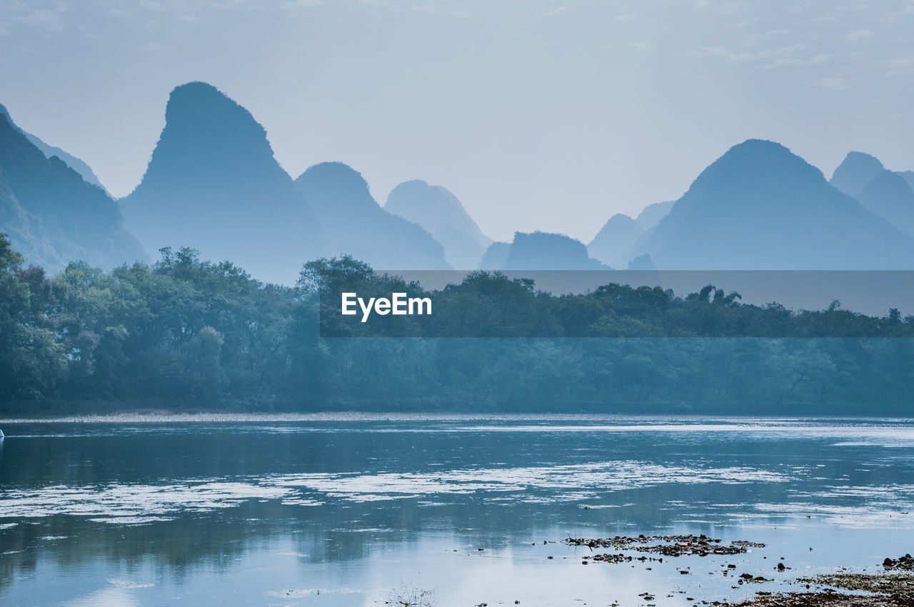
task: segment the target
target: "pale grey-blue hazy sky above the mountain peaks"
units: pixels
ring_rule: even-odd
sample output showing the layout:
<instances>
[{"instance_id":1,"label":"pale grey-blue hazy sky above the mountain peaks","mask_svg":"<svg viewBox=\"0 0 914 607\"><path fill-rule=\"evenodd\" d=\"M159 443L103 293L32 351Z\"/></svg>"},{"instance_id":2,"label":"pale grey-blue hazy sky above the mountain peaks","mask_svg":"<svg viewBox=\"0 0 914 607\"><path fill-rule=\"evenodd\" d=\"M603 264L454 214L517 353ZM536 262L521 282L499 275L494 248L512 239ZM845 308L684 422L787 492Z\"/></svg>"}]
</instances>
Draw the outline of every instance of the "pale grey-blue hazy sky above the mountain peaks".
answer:
<instances>
[{"instance_id":1,"label":"pale grey-blue hazy sky above the mountain peaks","mask_svg":"<svg viewBox=\"0 0 914 607\"><path fill-rule=\"evenodd\" d=\"M292 177L424 179L496 240L587 242L749 138L914 169L910 32L914 0L4 0L0 103L124 196L204 80Z\"/></svg>"}]
</instances>

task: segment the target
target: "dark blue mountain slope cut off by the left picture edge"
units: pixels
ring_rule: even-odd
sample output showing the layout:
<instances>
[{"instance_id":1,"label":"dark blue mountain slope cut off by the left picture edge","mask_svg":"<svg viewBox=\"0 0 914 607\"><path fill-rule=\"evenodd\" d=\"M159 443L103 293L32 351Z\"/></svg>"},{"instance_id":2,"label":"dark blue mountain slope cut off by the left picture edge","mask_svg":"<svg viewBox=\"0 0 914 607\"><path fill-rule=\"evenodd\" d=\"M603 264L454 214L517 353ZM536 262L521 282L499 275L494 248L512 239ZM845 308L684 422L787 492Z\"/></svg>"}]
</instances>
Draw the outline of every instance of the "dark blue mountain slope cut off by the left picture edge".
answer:
<instances>
[{"instance_id":1,"label":"dark blue mountain slope cut off by the left picture edge","mask_svg":"<svg viewBox=\"0 0 914 607\"><path fill-rule=\"evenodd\" d=\"M118 203L58 156L46 157L0 114L0 231L27 264L57 272L69 261L112 269L145 259Z\"/></svg>"}]
</instances>

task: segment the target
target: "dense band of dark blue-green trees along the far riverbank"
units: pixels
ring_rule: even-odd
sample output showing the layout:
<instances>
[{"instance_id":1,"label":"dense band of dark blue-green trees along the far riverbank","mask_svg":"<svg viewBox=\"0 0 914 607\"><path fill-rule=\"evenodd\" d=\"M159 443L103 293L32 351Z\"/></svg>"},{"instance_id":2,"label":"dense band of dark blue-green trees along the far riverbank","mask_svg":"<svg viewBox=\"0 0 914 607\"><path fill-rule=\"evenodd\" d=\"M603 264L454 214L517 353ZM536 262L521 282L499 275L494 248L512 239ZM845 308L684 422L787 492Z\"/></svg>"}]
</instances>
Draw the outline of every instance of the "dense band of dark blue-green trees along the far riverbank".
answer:
<instances>
[{"instance_id":1,"label":"dense band of dark blue-green trees along the far riverbank","mask_svg":"<svg viewBox=\"0 0 914 607\"><path fill-rule=\"evenodd\" d=\"M341 318L321 314L341 282L424 292L347 257L305 263L283 287L161 253L49 277L0 236L5 409L910 413L914 318L897 310L793 312L710 285L555 296L473 272L434 293L431 316L321 327ZM467 326L493 337L459 336Z\"/></svg>"}]
</instances>

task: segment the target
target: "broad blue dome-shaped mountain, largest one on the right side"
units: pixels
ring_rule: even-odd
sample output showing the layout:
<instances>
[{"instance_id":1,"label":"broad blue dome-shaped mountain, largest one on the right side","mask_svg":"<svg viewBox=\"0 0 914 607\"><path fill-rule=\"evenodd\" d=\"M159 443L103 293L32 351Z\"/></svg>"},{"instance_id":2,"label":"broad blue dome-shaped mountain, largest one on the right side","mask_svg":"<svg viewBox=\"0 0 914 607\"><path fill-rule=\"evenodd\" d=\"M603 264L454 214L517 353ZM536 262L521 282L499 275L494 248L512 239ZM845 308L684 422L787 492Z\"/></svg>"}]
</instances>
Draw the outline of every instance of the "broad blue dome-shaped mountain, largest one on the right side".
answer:
<instances>
[{"instance_id":1,"label":"broad blue dome-shaped mountain, largest one on the right side","mask_svg":"<svg viewBox=\"0 0 914 607\"><path fill-rule=\"evenodd\" d=\"M914 240L760 140L708 166L630 256L643 253L662 270L914 268Z\"/></svg>"}]
</instances>

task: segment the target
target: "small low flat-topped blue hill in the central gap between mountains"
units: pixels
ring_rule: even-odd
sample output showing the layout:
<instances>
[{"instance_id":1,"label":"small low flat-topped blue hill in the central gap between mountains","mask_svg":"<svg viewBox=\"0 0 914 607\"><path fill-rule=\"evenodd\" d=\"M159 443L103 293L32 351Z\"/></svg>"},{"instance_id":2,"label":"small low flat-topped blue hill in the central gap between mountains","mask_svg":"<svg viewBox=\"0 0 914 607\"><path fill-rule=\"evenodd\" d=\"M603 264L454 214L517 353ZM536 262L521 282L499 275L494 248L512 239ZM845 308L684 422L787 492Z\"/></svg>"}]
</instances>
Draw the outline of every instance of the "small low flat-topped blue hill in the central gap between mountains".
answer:
<instances>
[{"instance_id":1,"label":"small low flat-topped blue hill in the central gap between mountains","mask_svg":"<svg viewBox=\"0 0 914 607\"><path fill-rule=\"evenodd\" d=\"M504 246L499 246L504 245ZM502 253L505 253L502 257ZM501 262L498 264L498 262ZM549 232L515 232L510 243L494 242L486 250L482 270L607 270L591 259L580 240Z\"/></svg>"}]
</instances>

